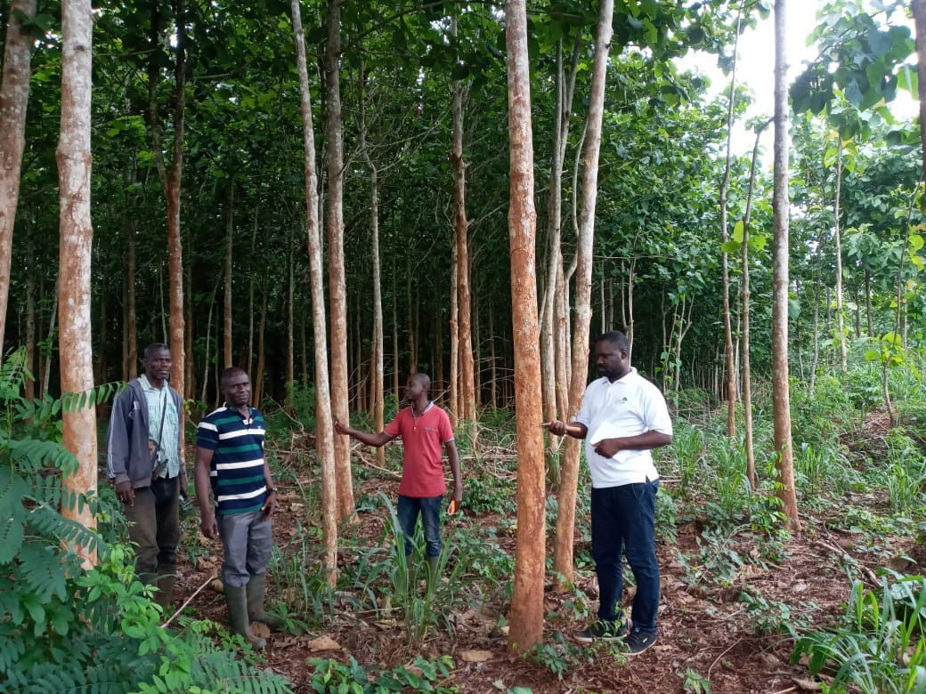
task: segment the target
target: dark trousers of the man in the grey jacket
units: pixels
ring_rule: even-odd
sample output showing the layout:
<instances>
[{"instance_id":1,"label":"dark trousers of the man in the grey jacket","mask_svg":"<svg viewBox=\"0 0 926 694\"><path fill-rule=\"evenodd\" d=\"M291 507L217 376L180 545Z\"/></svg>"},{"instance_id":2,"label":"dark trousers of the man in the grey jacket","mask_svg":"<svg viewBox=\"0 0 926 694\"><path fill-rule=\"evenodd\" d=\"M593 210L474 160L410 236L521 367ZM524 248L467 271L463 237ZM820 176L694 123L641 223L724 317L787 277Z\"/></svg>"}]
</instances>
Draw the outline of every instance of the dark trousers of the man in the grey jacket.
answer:
<instances>
[{"instance_id":1,"label":"dark trousers of the man in the grey jacket","mask_svg":"<svg viewBox=\"0 0 926 694\"><path fill-rule=\"evenodd\" d=\"M135 571L143 580L146 575L173 573L177 568L179 491L178 477L158 477L150 487L135 490L135 502L125 506L129 539L135 544Z\"/></svg>"}]
</instances>

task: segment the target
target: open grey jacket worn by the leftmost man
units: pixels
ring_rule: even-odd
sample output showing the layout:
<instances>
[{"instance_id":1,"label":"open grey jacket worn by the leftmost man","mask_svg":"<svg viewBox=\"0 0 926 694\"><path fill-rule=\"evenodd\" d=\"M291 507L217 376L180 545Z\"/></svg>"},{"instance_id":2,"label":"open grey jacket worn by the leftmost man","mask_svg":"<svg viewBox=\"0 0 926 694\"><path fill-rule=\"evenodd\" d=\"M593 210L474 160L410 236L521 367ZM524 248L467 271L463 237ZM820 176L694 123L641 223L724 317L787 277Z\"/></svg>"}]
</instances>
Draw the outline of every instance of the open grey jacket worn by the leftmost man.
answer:
<instances>
[{"instance_id":1,"label":"open grey jacket worn by the leftmost man","mask_svg":"<svg viewBox=\"0 0 926 694\"><path fill-rule=\"evenodd\" d=\"M180 393L173 388L170 388L169 393L177 413L182 415ZM113 401L112 412L109 414L109 430L106 433L106 475L116 484L131 481L133 489L148 487L151 484L149 431L148 403L144 398L142 382L139 378L132 378L125 389L119 390ZM182 482L182 450L179 451L179 455Z\"/></svg>"}]
</instances>

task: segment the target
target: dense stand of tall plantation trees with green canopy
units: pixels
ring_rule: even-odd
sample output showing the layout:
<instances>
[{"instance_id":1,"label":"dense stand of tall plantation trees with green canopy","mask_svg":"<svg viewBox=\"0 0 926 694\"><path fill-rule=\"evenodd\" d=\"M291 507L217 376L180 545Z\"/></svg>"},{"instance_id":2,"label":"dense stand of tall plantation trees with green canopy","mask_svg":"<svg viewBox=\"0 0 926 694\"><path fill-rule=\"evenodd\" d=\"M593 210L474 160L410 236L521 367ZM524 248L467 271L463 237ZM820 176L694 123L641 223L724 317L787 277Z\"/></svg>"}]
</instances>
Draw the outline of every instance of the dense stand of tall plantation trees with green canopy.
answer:
<instances>
[{"instance_id":1,"label":"dense stand of tall plantation trees with green canopy","mask_svg":"<svg viewBox=\"0 0 926 694\"><path fill-rule=\"evenodd\" d=\"M58 9L3 7L3 344L25 346L42 393L131 378L139 344L168 341L172 382L204 406L232 364L258 399L310 384L321 422L381 424L382 391L419 369L464 430L516 404L519 508L536 517L519 522L513 644L542 624L536 424L577 409L590 333L625 329L669 397L728 400L731 434L751 369L777 377L793 520L789 362L845 373L855 337L886 373L920 348L920 137L886 105L918 86L900 3L821 11L793 169L779 50L774 178L729 141L748 98L735 39L761 2ZM729 69L720 97L684 69L694 49ZM318 430L333 568L349 452ZM93 464L77 491L94 487L92 431L90 408L65 416Z\"/></svg>"}]
</instances>

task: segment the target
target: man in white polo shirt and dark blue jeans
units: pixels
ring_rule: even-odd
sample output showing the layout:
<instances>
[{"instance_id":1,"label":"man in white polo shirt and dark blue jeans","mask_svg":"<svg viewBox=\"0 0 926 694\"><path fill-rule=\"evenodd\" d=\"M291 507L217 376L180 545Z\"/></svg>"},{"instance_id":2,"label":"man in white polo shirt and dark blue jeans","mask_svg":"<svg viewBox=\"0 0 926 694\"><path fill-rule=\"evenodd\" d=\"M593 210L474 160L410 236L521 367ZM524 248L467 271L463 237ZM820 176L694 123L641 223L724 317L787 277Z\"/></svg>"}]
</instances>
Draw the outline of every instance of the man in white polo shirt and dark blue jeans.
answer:
<instances>
[{"instance_id":1,"label":"man in white polo shirt and dark blue jeans","mask_svg":"<svg viewBox=\"0 0 926 694\"><path fill-rule=\"evenodd\" d=\"M659 565L656 557L656 491L659 474L651 451L672 440L666 399L630 365L630 345L618 331L594 344L602 378L585 390L574 421L544 423L551 434L585 440L592 476L592 555L598 576L598 620L582 629L580 641L622 640L630 654L656 643ZM622 618L622 554L626 554L636 595L632 629Z\"/></svg>"}]
</instances>

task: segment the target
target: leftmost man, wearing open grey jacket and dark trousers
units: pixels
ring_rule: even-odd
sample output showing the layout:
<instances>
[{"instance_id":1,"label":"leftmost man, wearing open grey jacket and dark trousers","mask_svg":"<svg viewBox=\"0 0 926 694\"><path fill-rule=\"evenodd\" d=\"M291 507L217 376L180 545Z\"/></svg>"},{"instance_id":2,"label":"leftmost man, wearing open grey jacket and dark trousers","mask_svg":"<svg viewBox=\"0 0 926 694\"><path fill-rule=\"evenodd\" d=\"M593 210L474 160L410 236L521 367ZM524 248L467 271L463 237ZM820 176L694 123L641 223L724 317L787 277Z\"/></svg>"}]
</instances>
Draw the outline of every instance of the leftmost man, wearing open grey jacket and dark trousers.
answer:
<instances>
[{"instance_id":1,"label":"leftmost man, wearing open grey jacket and dark trousers","mask_svg":"<svg viewBox=\"0 0 926 694\"><path fill-rule=\"evenodd\" d=\"M166 344L145 347L142 366L144 374L113 402L106 472L124 504L135 570L144 583L156 585L156 601L167 612L177 574L180 494L187 484L180 445L183 405L168 385L172 362Z\"/></svg>"}]
</instances>

